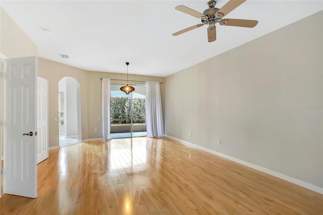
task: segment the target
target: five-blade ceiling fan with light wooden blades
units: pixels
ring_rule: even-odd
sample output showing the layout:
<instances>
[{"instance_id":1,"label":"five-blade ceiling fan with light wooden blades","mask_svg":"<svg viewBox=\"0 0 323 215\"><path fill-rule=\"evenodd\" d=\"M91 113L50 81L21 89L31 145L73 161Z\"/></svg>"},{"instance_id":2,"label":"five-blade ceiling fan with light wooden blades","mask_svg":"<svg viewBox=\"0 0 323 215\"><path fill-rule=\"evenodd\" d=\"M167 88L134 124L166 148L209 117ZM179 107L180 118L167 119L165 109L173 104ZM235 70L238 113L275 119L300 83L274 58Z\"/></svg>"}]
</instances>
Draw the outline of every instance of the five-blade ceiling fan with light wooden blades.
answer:
<instances>
[{"instance_id":1,"label":"five-blade ceiling fan with light wooden blades","mask_svg":"<svg viewBox=\"0 0 323 215\"><path fill-rule=\"evenodd\" d=\"M220 25L253 28L258 24L257 20L223 19L226 15L228 15L231 11L233 11L235 8L237 8L245 1L246 0L230 0L225 6L219 9L219 8L215 8L217 2L212 0L207 2L208 9L206 9L203 12L203 14L197 11L194 11L190 8L187 8L183 5L177 6L175 8L176 10L201 19L202 24L193 25L189 28L173 33L172 35L177 36L207 24L208 25L207 40L208 42L213 42L217 39L216 23L219 23Z\"/></svg>"}]
</instances>

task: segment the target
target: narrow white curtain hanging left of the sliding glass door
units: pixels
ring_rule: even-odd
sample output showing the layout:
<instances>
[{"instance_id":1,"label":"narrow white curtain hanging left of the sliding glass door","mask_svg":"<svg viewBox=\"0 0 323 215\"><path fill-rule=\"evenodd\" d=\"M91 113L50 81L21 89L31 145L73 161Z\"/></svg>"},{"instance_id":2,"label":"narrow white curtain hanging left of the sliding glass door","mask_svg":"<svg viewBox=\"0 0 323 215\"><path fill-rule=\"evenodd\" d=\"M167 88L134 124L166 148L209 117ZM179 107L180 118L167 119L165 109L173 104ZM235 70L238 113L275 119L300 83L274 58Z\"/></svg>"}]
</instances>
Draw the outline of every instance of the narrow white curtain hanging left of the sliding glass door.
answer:
<instances>
[{"instance_id":1,"label":"narrow white curtain hanging left of the sliding glass door","mask_svg":"<svg viewBox=\"0 0 323 215\"><path fill-rule=\"evenodd\" d=\"M101 86L102 137L110 140L110 78L102 78Z\"/></svg>"}]
</instances>

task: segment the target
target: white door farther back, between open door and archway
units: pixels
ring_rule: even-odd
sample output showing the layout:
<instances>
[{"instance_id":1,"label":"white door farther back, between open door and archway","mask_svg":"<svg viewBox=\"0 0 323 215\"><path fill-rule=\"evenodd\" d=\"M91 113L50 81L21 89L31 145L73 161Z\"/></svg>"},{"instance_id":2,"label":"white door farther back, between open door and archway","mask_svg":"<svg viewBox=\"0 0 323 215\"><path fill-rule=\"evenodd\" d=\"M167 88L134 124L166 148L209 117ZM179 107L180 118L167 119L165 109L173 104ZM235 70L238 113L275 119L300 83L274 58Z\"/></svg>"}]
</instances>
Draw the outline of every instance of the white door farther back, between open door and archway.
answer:
<instances>
[{"instance_id":1,"label":"white door farther back, between open door and archway","mask_svg":"<svg viewBox=\"0 0 323 215\"><path fill-rule=\"evenodd\" d=\"M37 164L48 158L48 81L37 77Z\"/></svg>"}]
</instances>

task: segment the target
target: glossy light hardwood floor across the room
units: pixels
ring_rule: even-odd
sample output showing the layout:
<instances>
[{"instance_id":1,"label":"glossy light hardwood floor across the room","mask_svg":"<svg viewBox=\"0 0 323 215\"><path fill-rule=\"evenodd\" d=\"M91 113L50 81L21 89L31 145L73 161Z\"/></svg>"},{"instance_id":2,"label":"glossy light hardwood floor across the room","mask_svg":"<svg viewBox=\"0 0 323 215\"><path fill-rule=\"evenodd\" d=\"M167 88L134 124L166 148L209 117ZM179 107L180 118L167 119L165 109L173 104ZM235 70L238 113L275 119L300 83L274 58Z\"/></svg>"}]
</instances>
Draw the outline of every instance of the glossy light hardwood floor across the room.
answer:
<instances>
[{"instance_id":1,"label":"glossy light hardwood floor across the room","mask_svg":"<svg viewBox=\"0 0 323 215\"><path fill-rule=\"evenodd\" d=\"M323 195L169 138L49 151L38 197L4 194L1 214L323 214Z\"/></svg>"}]
</instances>

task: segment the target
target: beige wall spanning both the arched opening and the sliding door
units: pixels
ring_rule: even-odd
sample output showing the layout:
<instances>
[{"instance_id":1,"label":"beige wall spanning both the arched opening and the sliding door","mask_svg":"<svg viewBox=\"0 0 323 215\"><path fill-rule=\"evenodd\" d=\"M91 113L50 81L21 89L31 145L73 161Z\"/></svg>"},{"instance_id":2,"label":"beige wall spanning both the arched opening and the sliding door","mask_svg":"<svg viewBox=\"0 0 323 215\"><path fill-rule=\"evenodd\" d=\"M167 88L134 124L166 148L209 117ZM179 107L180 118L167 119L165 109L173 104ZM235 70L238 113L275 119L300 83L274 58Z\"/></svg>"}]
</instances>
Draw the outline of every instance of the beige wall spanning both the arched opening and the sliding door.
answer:
<instances>
[{"instance_id":1,"label":"beige wall spanning both the arched opening and the sliding door","mask_svg":"<svg viewBox=\"0 0 323 215\"><path fill-rule=\"evenodd\" d=\"M48 145L59 145L59 126L54 121L58 117L58 87L64 77L75 78L81 86L82 140L100 139L101 135L101 77L126 79L126 74L91 72L61 63L39 58L38 76L48 80ZM129 75L129 80L165 82L163 77ZM112 83L124 83L111 81ZM131 82L132 83L132 82ZM130 83L130 84L131 84ZM142 84L142 83L140 83ZM162 108L165 110L165 83L160 84ZM165 111L163 111L165 113ZM98 120L98 117L100 120ZM96 129L96 132L94 132Z\"/></svg>"}]
</instances>

